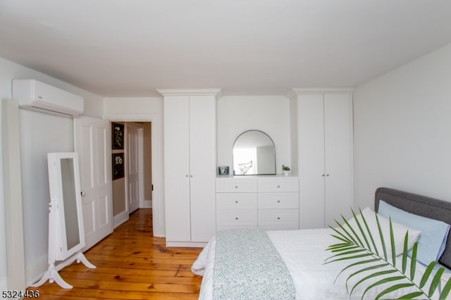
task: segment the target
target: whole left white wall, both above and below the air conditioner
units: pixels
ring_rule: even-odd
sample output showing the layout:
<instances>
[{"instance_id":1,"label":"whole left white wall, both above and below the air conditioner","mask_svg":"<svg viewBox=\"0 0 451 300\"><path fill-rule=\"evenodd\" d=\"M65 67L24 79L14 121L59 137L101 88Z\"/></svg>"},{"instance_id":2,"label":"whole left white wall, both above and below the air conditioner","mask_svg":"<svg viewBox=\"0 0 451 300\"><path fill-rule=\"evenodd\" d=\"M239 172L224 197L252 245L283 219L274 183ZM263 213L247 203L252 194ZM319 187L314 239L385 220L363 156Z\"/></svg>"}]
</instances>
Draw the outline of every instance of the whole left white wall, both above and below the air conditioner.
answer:
<instances>
[{"instance_id":1,"label":"whole left white wall, both above and below the air conditioner","mask_svg":"<svg viewBox=\"0 0 451 300\"><path fill-rule=\"evenodd\" d=\"M36 79L83 96L85 98L84 115L97 118L102 115L103 99L100 96L3 58L0 58L0 70L0 99L12 98L13 79ZM20 110L20 144L25 274L29 285L47 270L49 204L47 152L73 151L73 120ZM3 177L3 168L1 168L0 177ZM0 201L0 207L4 206L3 193L0 195ZM0 222L1 220L4 220L4 215L0 217ZM1 228L3 230L4 227ZM0 238L1 236L0 233ZM1 245L0 259L4 256L4 243ZM1 269L3 266L4 264L0 264L0 276L4 273Z\"/></svg>"}]
</instances>

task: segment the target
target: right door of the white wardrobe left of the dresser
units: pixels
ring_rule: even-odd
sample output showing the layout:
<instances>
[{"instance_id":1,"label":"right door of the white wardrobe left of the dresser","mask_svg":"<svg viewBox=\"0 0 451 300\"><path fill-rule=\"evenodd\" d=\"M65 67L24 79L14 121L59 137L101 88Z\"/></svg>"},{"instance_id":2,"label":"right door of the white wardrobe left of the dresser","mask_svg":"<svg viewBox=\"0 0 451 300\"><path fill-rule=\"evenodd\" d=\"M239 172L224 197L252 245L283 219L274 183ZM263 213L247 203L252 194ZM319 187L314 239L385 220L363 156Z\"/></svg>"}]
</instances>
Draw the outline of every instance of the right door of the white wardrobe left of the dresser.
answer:
<instances>
[{"instance_id":1,"label":"right door of the white wardrobe left of the dresser","mask_svg":"<svg viewBox=\"0 0 451 300\"><path fill-rule=\"evenodd\" d=\"M208 242L216 232L216 99L190 96L191 241Z\"/></svg>"}]
</instances>

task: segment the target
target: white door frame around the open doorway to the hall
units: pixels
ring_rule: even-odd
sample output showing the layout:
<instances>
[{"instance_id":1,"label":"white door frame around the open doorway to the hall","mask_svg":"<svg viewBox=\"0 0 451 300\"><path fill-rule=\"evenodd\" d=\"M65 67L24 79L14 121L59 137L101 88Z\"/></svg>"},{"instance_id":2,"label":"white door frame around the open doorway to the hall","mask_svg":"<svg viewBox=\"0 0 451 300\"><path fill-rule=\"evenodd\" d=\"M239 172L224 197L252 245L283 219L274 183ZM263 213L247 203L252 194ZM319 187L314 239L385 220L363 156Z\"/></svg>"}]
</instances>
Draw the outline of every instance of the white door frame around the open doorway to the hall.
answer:
<instances>
[{"instance_id":1,"label":"white door frame around the open doorway to the hall","mask_svg":"<svg viewBox=\"0 0 451 300\"><path fill-rule=\"evenodd\" d=\"M156 114L129 114L129 113L110 113L103 116L110 122L151 122L152 123L152 218L154 237L165 237L166 230L164 225L164 204L162 203L163 185L160 178L163 178L162 166L159 158L159 116ZM161 185L161 186L160 186Z\"/></svg>"}]
</instances>

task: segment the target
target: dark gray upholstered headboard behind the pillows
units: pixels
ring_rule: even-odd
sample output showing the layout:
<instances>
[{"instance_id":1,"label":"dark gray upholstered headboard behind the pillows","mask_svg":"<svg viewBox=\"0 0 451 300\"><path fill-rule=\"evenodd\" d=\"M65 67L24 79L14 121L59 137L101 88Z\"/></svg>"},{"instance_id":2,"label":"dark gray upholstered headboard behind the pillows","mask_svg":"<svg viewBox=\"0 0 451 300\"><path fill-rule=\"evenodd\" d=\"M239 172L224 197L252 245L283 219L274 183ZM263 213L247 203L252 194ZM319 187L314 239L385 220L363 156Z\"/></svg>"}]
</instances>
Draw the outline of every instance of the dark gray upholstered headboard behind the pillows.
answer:
<instances>
[{"instance_id":1,"label":"dark gray upholstered headboard behind the pillows","mask_svg":"<svg viewBox=\"0 0 451 300\"><path fill-rule=\"evenodd\" d=\"M441 220L451 224L451 202L433 199L427 196L421 196L408 192L390 189L388 187L379 187L376 189L374 209L378 211L379 200L401 208L409 213L423 215L426 218ZM448 235L446 249L440 257L439 262L451 269L451 230Z\"/></svg>"}]
</instances>

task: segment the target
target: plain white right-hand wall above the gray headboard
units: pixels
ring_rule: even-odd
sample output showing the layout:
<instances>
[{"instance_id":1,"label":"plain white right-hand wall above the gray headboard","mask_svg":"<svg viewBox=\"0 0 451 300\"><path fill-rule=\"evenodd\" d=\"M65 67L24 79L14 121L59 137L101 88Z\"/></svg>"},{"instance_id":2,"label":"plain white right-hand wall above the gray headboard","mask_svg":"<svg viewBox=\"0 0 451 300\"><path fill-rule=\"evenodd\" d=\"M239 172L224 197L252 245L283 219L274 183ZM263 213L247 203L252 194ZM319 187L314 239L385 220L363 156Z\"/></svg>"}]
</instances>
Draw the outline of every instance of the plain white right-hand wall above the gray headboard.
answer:
<instances>
[{"instance_id":1,"label":"plain white right-hand wall above the gray headboard","mask_svg":"<svg viewBox=\"0 0 451 300\"><path fill-rule=\"evenodd\" d=\"M357 87L354 204L385 186L451 201L451 44Z\"/></svg>"}]
</instances>

